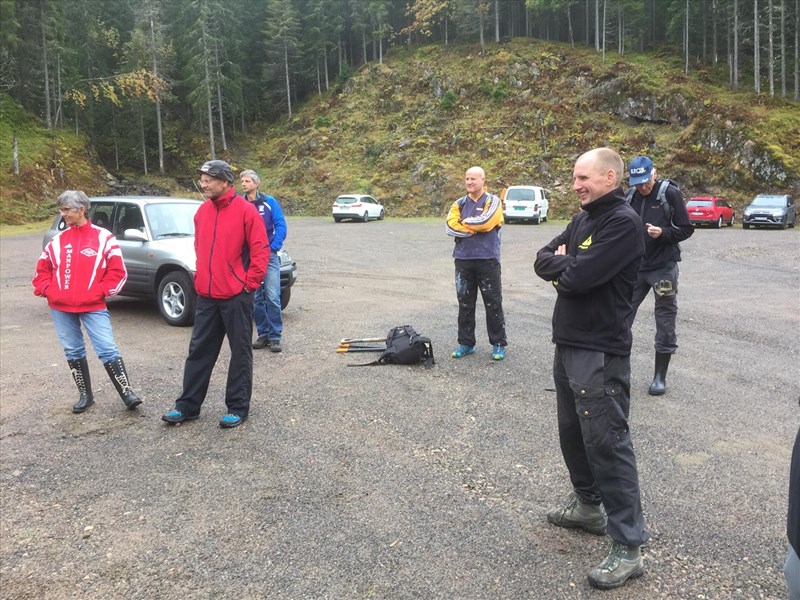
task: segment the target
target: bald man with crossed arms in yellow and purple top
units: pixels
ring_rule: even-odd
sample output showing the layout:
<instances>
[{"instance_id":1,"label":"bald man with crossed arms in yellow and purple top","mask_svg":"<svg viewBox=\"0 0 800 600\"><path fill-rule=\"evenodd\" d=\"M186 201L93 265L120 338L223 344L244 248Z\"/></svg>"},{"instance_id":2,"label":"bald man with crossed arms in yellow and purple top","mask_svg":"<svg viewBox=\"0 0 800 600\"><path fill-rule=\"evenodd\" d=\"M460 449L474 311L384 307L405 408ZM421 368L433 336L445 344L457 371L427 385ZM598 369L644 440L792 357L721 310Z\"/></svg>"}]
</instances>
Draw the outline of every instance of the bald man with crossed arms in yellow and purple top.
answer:
<instances>
[{"instance_id":1,"label":"bald man with crossed arms in yellow and purple top","mask_svg":"<svg viewBox=\"0 0 800 600\"><path fill-rule=\"evenodd\" d=\"M467 194L453 202L447 214L447 235L455 238L458 298L458 346L451 356L462 358L475 352L475 304L480 290L492 359L503 360L508 344L500 277L503 205L497 196L486 191L485 179L481 167L468 169L464 176Z\"/></svg>"}]
</instances>

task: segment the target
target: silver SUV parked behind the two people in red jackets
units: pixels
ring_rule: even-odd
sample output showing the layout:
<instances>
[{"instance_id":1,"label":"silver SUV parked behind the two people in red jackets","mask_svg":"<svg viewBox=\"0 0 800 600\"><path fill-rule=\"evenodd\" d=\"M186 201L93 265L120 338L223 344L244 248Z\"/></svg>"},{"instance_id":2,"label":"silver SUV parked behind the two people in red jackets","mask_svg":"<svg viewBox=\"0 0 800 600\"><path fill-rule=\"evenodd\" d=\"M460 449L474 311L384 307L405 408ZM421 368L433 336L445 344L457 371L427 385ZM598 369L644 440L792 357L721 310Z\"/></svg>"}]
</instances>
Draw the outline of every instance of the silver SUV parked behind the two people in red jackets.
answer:
<instances>
[{"instance_id":1,"label":"silver SUV parked behind the two people in red jackets","mask_svg":"<svg viewBox=\"0 0 800 600\"><path fill-rule=\"evenodd\" d=\"M158 197L90 198L89 220L119 241L128 280L121 296L155 297L170 325L191 325L194 291L194 215L200 200ZM42 246L64 229L61 216L44 234ZM285 250L281 257L281 305L286 308L297 279L297 265Z\"/></svg>"}]
</instances>

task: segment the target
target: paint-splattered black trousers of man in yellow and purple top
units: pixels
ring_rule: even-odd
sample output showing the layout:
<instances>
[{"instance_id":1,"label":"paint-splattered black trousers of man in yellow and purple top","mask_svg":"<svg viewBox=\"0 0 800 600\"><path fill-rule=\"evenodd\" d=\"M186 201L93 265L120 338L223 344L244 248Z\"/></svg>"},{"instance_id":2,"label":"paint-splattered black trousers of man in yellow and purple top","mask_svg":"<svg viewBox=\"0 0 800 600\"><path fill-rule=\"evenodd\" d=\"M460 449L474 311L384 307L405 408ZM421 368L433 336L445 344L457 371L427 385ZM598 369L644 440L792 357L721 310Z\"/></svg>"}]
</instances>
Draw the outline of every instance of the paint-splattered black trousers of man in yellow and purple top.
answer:
<instances>
[{"instance_id":1,"label":"paint-splattered black trousers of man in yellow and purple top","mask_svg":"<svg viewBox=\"0 0 800 600\"><path fill-rule=\"evenodd\" d=\"M500 261L456 259L456 297L458 298L458 343L475 345L475 303L478 290L486 310L486 331L492 345L506 346L506 321L503 316L503 286Z\"/></svg>"}]
</instances>

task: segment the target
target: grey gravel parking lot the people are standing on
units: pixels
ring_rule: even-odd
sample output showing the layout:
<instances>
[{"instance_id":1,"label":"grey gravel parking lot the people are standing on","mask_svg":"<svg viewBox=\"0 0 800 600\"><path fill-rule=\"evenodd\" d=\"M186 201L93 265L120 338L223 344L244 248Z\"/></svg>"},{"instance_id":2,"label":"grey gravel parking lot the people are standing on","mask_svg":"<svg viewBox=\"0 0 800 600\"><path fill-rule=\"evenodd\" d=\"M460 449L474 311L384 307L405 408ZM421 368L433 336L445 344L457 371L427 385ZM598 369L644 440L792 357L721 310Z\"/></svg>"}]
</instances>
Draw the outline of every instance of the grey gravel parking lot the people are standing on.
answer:
<instances>
[{"instance_id":1,"label":"grey gravel parking lot the people are standing on","mask_svg":"<svg viewBox=\"0 0 800 600\"><path fill-rule=\"evenodd\" d=\"M300 278L281 354L255 352L250 419L221 430L227 349L200 420L167 427L190 330L110 301L145 400L127 413L96 356L76 391L30 279L40 235L0 240L0 586L22 598L785 598L800 419L800 229L683 244L679 354L652 378L634 326L631 430L647 573L592 590L608 541L547 524L569 491L551 391L555 294L533 273L564 223L503 229L507 359L455 344L442 220L290 218ZM480 303L479 303L480 304ZM348 368L343 337L411 324L437 363Z\"/></svg>"}]
</instances>

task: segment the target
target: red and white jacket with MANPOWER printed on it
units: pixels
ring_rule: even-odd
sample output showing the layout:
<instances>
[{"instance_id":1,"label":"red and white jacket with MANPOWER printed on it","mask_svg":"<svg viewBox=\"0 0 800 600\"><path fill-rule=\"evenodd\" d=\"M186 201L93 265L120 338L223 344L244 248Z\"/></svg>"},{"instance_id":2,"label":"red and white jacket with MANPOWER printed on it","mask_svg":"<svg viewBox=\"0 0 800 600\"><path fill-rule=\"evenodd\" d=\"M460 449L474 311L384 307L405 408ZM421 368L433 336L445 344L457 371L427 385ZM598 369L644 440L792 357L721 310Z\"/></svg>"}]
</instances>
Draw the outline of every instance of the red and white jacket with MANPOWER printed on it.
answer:
<instances>
[{"instance_id":1,"label":"red and white jacket with MANPOWER printed on it","mask_svg":"<svg viewBox=\"0 0 800 600\"><path fill-rule=\"evenodd\" d=\"M69 227L45 246L33 276L33 293L47 298L50 308L89 312L106 307L117 295L128 271L117 238L90 222Z\"/></svg>"}]
</instances>

